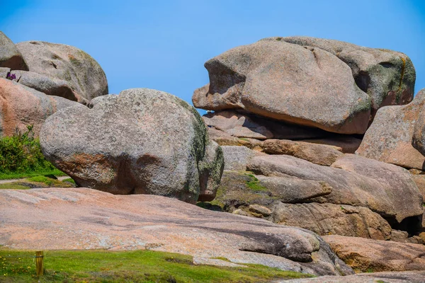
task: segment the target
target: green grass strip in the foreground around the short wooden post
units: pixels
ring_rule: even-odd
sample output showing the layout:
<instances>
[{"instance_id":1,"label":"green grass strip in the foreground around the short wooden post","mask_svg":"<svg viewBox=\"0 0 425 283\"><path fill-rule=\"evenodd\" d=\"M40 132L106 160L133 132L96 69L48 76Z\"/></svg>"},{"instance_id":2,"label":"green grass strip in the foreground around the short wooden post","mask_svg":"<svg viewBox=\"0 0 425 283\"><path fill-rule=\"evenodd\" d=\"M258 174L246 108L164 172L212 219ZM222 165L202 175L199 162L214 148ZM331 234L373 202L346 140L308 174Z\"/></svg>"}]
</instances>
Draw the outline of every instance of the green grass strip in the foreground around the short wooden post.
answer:
<instances>
[{"instance_id":1,"label":"green grass strip in the foreground around the short wooden post","mask_svg":"<svg viewBox=\"0 0 425 283\"><path fill-rule=\"evenodd\" d=\"M270 282L312 277L263 265L193 265L189 255L153 250L52 250L45 275L35 275L34 253L0 250L1 282Z\"/></svg>"}]
</instances>

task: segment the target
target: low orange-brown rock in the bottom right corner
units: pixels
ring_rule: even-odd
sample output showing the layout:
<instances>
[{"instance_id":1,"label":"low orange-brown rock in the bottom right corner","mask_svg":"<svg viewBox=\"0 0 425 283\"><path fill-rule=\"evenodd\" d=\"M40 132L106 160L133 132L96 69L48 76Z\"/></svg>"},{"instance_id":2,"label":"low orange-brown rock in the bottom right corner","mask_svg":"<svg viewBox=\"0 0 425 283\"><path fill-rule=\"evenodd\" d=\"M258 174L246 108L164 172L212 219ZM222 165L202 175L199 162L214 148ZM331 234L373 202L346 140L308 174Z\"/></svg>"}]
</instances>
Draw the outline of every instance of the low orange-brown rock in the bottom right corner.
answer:
<instances>
[{"instance_id":1,"label":"low orange-brown rock in the bottom right corner","mask_svg":"<svg viewBox=\"0 0 425 283\"><path fill-rule=\"evenodd\" d=\"M425 270L424 245L335 235L324 240L357 272Z\"/></svg>"}]
</instances>

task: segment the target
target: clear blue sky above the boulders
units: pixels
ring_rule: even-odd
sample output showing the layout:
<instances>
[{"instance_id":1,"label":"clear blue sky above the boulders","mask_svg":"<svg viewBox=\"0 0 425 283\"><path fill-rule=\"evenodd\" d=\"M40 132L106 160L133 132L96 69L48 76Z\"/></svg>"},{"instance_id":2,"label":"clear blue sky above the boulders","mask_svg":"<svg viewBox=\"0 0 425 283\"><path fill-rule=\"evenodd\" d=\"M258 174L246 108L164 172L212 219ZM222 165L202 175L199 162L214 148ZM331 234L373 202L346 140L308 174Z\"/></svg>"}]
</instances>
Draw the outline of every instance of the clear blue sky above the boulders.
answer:
<instances>
[{"instance_id":1,"label":"clear blue sky above the boulders","mask_svg":"<svg viewBox=\"0 0 425 283\"><path fill-rule=\"evenodd\" d=\"M263 37L308 35L407 54L415 93L425 88L425 0L0 0L13 42L79 47L108 77L110 93L155 88L191 103L208 83L203 64Z\"/></svg>"}]
</instances>

